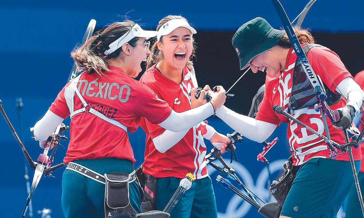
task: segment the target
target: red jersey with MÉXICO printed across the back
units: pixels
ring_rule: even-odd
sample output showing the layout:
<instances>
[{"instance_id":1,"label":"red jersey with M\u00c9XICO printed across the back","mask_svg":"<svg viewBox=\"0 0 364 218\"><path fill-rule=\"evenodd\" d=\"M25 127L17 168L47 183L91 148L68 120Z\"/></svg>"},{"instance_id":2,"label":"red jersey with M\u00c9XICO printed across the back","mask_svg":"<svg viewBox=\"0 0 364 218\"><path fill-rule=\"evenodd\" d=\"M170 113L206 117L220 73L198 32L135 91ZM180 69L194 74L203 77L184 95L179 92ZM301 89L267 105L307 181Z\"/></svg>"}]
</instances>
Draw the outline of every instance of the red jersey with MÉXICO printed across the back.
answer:
<instances>
[{"instance_id":1,"label":"red jersey with M\u00c9XICO printed across the back","mask_svg":"<svg viewBox=\"0 0 364 218\"><path fill-rule=\"evenodd\" d=\"M109 66L109 69L111 72L107 72L106 76L82 73L77 87L88 105L120 122L132 133L137 130L142 116L153 124L159 124L170 115L169 105L158 99L148 86L134 80L121 68ZM62 118L70 115L64 89L49 108ZM75 95L74 110L82 107L82 102ZM118 126L87 112L73 116L70 126L70 143L63 160L65 163L108 157L135 162L128 134Z\"/></svg>"}]
</instances>

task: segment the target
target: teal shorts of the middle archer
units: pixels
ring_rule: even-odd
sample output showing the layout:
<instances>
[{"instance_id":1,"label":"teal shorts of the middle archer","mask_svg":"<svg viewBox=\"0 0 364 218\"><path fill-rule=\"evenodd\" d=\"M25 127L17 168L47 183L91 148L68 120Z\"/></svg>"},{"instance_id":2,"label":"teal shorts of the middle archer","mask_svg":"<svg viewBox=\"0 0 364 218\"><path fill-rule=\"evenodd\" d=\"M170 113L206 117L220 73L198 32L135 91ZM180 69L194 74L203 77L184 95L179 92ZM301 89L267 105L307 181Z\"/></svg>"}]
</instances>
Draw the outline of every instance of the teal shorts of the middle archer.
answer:
<instances>
[{"instance_id":1,"label":"teal shorts of the middle archer","mask_svg":"<svg viewBox=\"0 0 364 218\"><path fill-rule=\"evenodd\" d=\"M180 178L158 178L157 210L163 210L179 186ZM215 194L210 177L196 179L171 211L170 218L217 218Z\"/></svg>"}]
</instances>

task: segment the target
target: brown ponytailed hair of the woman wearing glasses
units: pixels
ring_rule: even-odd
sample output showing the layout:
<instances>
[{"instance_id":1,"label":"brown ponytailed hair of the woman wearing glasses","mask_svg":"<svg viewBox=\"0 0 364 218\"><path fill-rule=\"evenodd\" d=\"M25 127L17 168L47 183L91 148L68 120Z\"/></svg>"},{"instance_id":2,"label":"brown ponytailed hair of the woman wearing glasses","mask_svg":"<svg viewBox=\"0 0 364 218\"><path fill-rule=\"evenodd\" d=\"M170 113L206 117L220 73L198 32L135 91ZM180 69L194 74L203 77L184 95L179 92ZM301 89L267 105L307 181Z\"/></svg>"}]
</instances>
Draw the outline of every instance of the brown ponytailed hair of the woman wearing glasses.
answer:
<instances>
[{"instance_id":1,"label":"brown ponytailed hair of the woman wearing glasses","mask_svg":"<svg viewBox=\"0 0 364 218\"><path fill-rule=\"evenodd\" d=\"M122 48L116 49L110 55L105 55L104 52L109 48L111 43L130 31L134 24L130 20L110 24L105 30L96 32L86 43L72 51L71 56L75 60L79 71L85 70L87 73L96 72L99 75L104 75L104 72L110 71L108 69L108 60L118 57ZM137 37L130 40L128 44L134 47L136 41L138 41Z\"/></svg>"}]
</instances>

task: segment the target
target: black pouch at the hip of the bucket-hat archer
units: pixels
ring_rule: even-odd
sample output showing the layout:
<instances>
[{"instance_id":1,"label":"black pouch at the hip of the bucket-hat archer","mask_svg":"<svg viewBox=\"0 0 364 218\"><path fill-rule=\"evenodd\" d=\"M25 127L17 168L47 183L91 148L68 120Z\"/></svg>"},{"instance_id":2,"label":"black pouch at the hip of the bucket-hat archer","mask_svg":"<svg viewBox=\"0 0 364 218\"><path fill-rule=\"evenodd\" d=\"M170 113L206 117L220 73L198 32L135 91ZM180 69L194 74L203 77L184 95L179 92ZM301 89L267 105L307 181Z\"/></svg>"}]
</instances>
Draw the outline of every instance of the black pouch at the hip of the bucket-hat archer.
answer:
<instances>
[{"instance_id":1,"label":"black pouch at the hip of the bucket-hat archer","mask_svg":"<svg viewBox=\"0 0 364 218\"><path fill-rule=\"evenodd\" d=\"M283 174L277 180L274 180L269 187L270 193L272 193L273 197L282 207L298 171L298 167L293 166L292 163L291 156L283 165Z\"/></svg>"}]
</instances>

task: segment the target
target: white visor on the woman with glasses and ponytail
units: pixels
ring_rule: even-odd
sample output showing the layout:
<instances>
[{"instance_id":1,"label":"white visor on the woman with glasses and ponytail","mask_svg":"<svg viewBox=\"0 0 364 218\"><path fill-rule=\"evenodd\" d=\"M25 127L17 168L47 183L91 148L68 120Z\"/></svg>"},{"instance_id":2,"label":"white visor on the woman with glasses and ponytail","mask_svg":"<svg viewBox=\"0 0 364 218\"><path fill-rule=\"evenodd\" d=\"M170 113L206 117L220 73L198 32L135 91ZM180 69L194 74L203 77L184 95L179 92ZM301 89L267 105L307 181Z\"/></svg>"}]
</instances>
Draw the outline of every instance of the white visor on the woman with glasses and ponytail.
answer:
<instances>
[{"instance_id":1,"label":"white visor on the woman with glasses and ponytail","mask_svg":"<svg viewBox=\"0 0 364 218\"><path fill-rule=\"evenodd\" d=\"M157 31L149 31L142 29L138 24L135 24L130 31L126 32L119 39L115 40L113 43L109 45L110 49L107 49L104 54L110 55L112 52L115 52L116 49L122 47L128 41L134 39L135 37L141 37L149 39L151 37L157 36Z\"/></svg>"}]
</instances>

